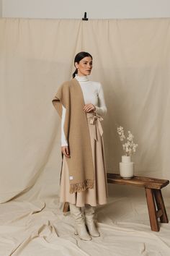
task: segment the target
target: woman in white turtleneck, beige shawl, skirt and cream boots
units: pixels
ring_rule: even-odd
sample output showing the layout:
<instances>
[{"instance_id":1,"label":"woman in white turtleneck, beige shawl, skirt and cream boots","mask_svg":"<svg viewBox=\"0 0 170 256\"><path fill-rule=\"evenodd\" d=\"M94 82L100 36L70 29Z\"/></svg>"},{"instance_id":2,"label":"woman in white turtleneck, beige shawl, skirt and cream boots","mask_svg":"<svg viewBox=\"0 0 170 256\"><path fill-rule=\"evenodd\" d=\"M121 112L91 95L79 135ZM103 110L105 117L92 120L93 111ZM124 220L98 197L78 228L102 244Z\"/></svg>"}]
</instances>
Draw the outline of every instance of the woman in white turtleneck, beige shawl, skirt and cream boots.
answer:
<instances>
[{"instance_id":1,"label":"woman in white turtleneck, beige shawl, skirt and cream boots","mask_svg":"<svg viewBox=\"0 0 170 256\"><path fill-rule=\"evenodd\" d=\"M61 116L60 202L69 202L75 234L91 240L100 236L94 223L95 207L106 204L108 196L101 125L107 107L101 83L88 77L91 54L76 54L74 66L73 79L63 82L52 101Z\"/></svg>"}]
</instances>

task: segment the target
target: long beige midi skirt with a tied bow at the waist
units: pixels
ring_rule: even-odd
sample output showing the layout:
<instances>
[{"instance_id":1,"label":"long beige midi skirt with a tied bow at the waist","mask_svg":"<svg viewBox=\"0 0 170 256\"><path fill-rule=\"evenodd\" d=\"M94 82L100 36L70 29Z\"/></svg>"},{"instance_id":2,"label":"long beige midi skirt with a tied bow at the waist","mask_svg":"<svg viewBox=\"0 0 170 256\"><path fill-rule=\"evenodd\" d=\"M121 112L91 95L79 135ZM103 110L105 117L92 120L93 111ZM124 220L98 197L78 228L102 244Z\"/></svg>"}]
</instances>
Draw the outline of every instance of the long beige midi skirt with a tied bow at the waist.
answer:
<instances>
[{"instance_id":1,"label":"long beige midi skirt with a tied bow at the waist","mask_svg":"<svg viewBox=\"0 0 170 256\"><path fill-rule=\"evenodd\" d=\"M107 203L107 171L104 155L104 140L101 121L102 116L94 112L86 113L89 134L91 140L91 150L94 163L94 187L82 192L69 193L69 171L66 162L66 156L63 155L63 164L61 170L60 202L70 202L78 207L84 207L85 204L91 206L104 205Z\"/></svg>"}]
</instances>

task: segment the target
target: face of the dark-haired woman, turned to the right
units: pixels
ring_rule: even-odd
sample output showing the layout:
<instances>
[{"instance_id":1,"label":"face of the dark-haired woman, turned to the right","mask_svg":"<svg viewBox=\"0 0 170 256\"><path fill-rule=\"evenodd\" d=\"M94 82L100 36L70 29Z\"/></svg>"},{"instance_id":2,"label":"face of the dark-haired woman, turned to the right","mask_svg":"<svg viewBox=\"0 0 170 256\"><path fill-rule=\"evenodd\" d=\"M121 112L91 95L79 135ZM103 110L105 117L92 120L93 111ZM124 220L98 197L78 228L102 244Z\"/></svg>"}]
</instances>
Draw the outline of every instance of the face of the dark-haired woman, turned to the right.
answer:
<instances>
[{"instance_id":1,"label":"face of the dark-haired woman, turned to the right","mask_svg":"<svg viewBox=\"0 0 170 256\"><path fill-rule=\"evenodd\" d=\"M75 66L78 69L78 75L89 75L92 69L92 59L91 57L84 57L79 63L75 62Z\"/></svg>"}]
</instances>

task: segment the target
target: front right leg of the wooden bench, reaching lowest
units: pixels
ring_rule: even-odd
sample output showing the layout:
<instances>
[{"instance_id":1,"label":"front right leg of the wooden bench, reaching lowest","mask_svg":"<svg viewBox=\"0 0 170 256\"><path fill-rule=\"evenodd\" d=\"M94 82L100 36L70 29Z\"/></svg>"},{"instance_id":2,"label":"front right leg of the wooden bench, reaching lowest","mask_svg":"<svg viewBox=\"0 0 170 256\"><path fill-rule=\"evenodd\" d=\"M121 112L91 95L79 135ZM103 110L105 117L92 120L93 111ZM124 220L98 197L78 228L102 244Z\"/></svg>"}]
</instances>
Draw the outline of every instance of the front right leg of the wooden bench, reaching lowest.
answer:
<instances>
[{"instance_id":1,"label":"front right leg of the wooden bench, reaching lowest","mask_svg":"<svg viewBox=\"0 0 170 256\"><path fill-rule=\"evenodd\" d=\"M160 227L159 227L158 218L156 215L156 205L154 201L153 189L145 188L145 190L146 190L146 200L148 205L148 214L149 214L149 219L151 223L151 230L158 232Z\"/></svg>"}]
</instances>

